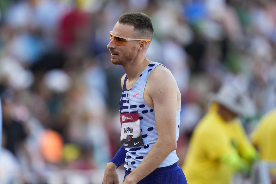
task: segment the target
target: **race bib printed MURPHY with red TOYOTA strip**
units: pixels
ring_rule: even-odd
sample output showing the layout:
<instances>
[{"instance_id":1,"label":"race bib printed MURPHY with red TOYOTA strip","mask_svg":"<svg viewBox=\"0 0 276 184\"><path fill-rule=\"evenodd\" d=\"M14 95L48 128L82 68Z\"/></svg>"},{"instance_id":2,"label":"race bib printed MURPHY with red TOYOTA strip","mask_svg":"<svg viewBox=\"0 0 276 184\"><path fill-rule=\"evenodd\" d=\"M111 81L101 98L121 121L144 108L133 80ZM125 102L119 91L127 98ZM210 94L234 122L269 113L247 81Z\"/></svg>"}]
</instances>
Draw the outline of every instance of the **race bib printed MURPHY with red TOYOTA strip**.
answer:
<instances>
[{"instance_id":1,"label":"race bib printed MURPHY with red TOYOTA strip","mask_svg":"<svg viewBox=\"0 0 276 184\"><path fill-rule=\"evenodd\" d=\"M139 147L144 145L138 112L120 114L121 145L123 147Z\"/></svg>"}]
</instances>

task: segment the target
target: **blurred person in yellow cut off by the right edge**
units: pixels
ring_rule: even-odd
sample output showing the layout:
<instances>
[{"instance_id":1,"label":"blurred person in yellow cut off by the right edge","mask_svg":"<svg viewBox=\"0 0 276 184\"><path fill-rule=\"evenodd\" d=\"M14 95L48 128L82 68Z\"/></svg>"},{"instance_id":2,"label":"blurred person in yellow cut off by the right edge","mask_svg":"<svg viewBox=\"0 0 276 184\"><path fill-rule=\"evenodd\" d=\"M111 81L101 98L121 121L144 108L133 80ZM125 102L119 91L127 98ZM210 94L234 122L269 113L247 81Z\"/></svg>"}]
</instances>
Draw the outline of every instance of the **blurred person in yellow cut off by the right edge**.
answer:
<instances>
[{"instance_id":1,"label":"blurred person in yellow cut off by the right edge","mask_svg":"<svg viewBox=\"0 0 276 184\"><path fill-rule=\"evenodd\" d=\"M276 162L276 109L265 114L254 132L251 140L260 152L260 158L266 162ZM271 179L276 183L276 170L272 170Z\"/></svg>"}]
</instances>

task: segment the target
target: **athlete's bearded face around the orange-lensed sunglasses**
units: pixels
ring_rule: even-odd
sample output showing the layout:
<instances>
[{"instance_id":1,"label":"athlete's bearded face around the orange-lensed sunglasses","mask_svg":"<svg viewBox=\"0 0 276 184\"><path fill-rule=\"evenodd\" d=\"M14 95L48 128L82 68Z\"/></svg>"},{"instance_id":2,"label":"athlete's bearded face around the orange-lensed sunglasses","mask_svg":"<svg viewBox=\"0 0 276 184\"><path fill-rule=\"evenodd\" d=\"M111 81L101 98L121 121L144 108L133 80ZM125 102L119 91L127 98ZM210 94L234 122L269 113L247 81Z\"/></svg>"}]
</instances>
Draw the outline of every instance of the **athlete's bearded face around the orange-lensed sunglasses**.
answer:
<instances>
[{"instance_id":1,"label":"athlete's bearded face around the orange-lensed sunglasses","mask_svg":"<svg viewBox=\"0 0 276 184\"><path fill-rule=\"evenodd\" d=\"M112 34L124 38L133 38L133 26L120 24L117 22L112 30ZM118 46L111 39L107 45L111 53L111 62L113 64L125 65L131 62L137 54L137 41L127 41L125 46Z\"/></svg>"}]
</instances>

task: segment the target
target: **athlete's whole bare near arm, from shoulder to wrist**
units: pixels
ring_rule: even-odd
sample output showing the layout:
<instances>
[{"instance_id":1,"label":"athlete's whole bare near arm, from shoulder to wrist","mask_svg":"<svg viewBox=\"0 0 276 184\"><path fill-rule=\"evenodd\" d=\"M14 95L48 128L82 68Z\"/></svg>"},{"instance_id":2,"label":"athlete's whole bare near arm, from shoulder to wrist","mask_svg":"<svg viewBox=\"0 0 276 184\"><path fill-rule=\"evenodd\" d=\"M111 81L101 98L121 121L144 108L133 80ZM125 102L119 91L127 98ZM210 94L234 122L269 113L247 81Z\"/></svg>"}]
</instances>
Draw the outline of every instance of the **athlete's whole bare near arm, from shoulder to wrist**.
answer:
<instances>
[{"instance_id":1,"label":"athlete's whole bare near arm, from shoulder to wrist","mask_svg":"<svg viewBox=\"0 0 276 184\"><path fill-rule=\"evenodd\" d=\"M180 94L173 75L161 67L152 71L145 90L154 106L158 139L143 162L126 177L124 184L137 183L146 177L177 147L176 112L180 107L180 96L177 103Z\"/></svg>"}]
</instances>

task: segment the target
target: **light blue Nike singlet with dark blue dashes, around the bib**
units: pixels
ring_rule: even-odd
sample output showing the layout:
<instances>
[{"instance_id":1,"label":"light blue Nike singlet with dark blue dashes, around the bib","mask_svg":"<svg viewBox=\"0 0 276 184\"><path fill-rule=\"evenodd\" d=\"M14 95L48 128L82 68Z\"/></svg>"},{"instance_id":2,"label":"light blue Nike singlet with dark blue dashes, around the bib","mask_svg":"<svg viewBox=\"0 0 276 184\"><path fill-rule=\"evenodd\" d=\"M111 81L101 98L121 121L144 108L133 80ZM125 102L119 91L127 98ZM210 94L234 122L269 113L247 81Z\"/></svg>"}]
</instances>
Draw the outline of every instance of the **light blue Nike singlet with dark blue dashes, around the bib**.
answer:
<instances>
[{"instance_id":1,"label":"light blue Nike singlet with dark blue dashes, around the bib","mask_svg":"<svg viewBox=\"0 0 276 184\"><path fill-rule=\"evenodd\" d=\"M119 101L120 113L127 114L138 111L140 129L144 142L144 146L141 147L125 148L126 158L124 169L128 171L134 170L144 160L158 138L154 109L147 106L143 98L147 78L150 75L150 72L158 65L160 65L160 63L151 62L139 76L134 86L129 90L126 89L127 76L124 79L122 94ZM176 113L176 141L179 137L179 123L180 109ZM178 157L174 150L158 167L170 166L177 161Z\"/></svg>"}]
</instances>

